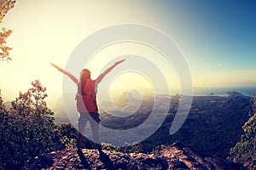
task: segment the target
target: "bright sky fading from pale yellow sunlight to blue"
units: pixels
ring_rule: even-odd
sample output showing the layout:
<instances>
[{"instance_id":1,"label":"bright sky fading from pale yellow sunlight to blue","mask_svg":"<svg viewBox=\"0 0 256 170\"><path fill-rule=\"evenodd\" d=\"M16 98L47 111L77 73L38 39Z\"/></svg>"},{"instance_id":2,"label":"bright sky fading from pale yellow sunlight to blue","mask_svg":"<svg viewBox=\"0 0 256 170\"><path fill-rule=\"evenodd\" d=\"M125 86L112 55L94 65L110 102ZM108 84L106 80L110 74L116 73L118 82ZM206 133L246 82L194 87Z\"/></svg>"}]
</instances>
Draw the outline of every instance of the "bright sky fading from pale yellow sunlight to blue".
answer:
<instances>
[{"instance_id":1,"label":"bright sky fading from pale yellow sunlight to blue","mask_svg":"<svg viewBox=\"0 0 256 170\"><path fill-rule=\"evenodd\" d=\"M8 39L13 60L0 63L3 99L15 99L20 91L31 87L32 80L39 79L47 88L49 105L54 105L62 94L63 76L49 63L65 68L84 38L102 28L125 23L151 26L171 37L188 62L194 88L255 87L255 8L253 0L17 1L1 24L13 30ZM88 65L92 78L113 56L125 54L151 56L149 59L167 77L168 86L180 87L175 69L165 66L162 54L129 42L97 52ZM79 77L78 72L71 72ZM147 77L134 74L126 71L109 79L110 88L152 86Z\"/></svg>"}]
</instances>

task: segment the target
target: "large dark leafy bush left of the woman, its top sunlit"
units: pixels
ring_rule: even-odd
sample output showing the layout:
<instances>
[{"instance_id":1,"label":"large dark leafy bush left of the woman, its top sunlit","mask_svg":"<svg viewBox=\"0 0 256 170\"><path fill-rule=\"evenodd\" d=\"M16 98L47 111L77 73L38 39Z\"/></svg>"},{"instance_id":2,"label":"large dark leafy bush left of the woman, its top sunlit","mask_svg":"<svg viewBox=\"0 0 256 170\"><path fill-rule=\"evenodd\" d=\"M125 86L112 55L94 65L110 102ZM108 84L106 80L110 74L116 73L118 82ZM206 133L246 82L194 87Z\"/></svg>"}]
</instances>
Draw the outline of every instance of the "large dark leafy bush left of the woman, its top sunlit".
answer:
<instances>
[{"instance_id":1,"label":"large dark leafy bush left of the woman, its top sunlit","mask_svg":"<svg viewBox=\"0 0 256 170\"><path fill-rule=\"evenodd\" d=\"M44 99L46 88L37 80L12 101L9 111L0 102L1 169L17 169L28 159L60 145L59 128Z\"/></svg>"}]
</instances>

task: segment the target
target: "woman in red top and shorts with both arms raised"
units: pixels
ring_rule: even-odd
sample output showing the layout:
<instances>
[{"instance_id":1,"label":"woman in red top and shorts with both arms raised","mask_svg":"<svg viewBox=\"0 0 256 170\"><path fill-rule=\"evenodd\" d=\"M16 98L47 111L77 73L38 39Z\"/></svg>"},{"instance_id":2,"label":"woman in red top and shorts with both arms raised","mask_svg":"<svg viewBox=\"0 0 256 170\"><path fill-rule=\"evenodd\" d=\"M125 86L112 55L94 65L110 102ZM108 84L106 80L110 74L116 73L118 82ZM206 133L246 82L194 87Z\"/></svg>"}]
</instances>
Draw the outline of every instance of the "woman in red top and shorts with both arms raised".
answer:
<instances>
[{"instance_id":1,"label":"woman in red top and shorts with both arms raised","mask_svg":"<svg viewBox=\"0 0 256 170\"><path fill-rule=\"evenodd\" d=\"M116 62L106 71L104 71L99 77L97 77L96 80L90 79L90 71L88 69L83 69L81 71L80 78L78 80L69 72L64 71L57 65L51 63L51 65L58 69L58 71L61 71L63 74L67 75L67 77L71 78L71 80L78 85L76 100L77 110L79 111L79 137L77 140L77 148L79 152L81 152L86 123L90 122L90 127L96 141L97 149L99 150L100 156L103 154L102 145L100 144L99 139L99 122L101 122L101 120L99 118L98 108L96 105L96 88L98 83L102 81L103 77L105 77L109 71L112 71L113 67L119 65L123 61L125 61L125 59Z\"/></svg>"}]
</instances>

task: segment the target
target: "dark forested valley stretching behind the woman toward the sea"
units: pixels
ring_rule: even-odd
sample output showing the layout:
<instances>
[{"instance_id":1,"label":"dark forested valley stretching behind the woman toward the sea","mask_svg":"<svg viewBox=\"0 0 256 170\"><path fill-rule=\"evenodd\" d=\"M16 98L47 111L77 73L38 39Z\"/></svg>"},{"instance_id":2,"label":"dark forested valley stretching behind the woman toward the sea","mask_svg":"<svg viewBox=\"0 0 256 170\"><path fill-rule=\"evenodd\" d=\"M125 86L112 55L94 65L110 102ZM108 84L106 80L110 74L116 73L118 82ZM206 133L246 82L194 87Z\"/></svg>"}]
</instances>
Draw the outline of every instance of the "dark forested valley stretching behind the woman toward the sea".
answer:
<instances>
[{"instance_id":1,"label":"dark forested valley stretching behind the woman toward the sea","mask_svg":"<svg viewBox=\"0 0 256 170\"><path fill-rule=\"evenodd\" d=\"M154 150L154 148L161 144L172 144L174 141L179 141L189 145L193 150L201 154L214 154L221 157L229 155L231 147L239 141L242 133L242 125L247 122L249 118L250 100L251 97L238 94L236 92L228 93L227 96L194 96L189 116L184 122L183 126L177 133L170 135L169 130L172 126L172 121L177 113L179 106L179 96L165 96L158 95L157 98L162 99L171 97L171 104L166 116L165 122L160 128L148 139L143 141L143 150ZM151 114L154 105L154 99L144 99L140 108L131 116L116 117L110 116L101 112L102 125L113 129L130 129L137 127ZM165 108L160 108L160 111L155 114L165 114ZM148 124L147 129L154 127L154 120L152 124ZM108 133L108 130L102 131L102 140L109 141L109 139L116 138ZM119 140L125 139L124 136L119 136ZM138 134L134 134L139 135Z\"/></svg>"}]
</instances>

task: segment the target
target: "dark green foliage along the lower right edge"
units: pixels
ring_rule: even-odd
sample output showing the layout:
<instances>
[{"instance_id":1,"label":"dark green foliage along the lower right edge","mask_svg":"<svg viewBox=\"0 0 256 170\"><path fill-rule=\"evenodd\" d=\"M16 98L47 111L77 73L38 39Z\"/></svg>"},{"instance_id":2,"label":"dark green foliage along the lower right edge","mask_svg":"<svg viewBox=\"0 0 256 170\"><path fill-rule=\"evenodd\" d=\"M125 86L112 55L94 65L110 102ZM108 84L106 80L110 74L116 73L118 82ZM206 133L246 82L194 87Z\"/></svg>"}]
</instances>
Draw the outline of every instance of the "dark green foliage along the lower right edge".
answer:
<instances>
[{"instance_id":1,"label":"dark green foliage along the lower right edge","mask_svg":"<svg viewBox=\"0 0 256 170\"><path fill-rule=\"evenodd\" d=\"M253 99L254 115L243 125L241 141L230 150L230 160L256 169L256 94Z\"/></svg>"}]
</instances>

